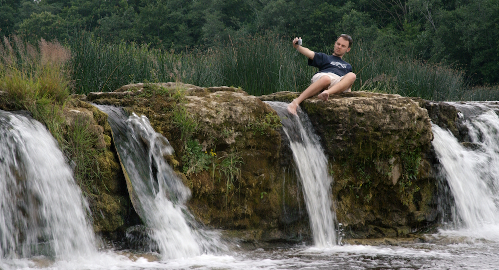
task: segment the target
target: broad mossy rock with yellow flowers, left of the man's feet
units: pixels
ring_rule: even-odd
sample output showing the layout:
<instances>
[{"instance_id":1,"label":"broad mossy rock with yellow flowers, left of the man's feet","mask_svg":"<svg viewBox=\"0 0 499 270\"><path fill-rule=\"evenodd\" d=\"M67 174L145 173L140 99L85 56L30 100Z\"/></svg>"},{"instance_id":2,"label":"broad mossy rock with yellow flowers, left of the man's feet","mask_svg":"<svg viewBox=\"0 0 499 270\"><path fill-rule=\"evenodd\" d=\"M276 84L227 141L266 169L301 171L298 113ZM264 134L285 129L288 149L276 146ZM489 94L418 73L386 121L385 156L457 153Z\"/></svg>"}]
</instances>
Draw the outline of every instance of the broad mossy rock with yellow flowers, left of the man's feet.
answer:
<instances>
[{"instance_id":1,"label":"broad mossy rock with yellow flowers, left of the man's feet","mask_svg":"<svg viewBox=\"0 0 499 270\"><path fill-rule=\"evenodd\" d=\"M149 118L174 148L166 158L192 191L191 213L205 225L237 230L248 241L302 241L298 236L309 233L280 120L257 97L234 87L160 83L84 99Z\"/></svg>"}]
</instances>

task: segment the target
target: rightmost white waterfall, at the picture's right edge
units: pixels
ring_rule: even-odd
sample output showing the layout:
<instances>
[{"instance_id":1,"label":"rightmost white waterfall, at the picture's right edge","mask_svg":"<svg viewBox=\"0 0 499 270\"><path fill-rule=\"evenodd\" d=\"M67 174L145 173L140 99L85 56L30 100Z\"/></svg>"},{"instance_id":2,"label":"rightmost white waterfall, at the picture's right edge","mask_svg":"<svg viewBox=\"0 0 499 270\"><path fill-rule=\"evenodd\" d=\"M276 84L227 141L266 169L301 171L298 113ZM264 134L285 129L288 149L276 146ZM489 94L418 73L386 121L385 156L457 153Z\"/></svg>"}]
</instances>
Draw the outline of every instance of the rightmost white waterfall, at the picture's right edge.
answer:
<instances>
[{"instance_id":1,"label":"rightmost white waterfall, at the picture's right edge","mask_svg":"<svg viewBox=\"0 0 499 270\"><path fill-rule=\"evenodd\" d=\"M469 131L469 143L465 147L449 131L433 125L432 144L454 198L454 224L475 231L499 226L499 106L451 104Z\"/></svg>"}]
</instances>

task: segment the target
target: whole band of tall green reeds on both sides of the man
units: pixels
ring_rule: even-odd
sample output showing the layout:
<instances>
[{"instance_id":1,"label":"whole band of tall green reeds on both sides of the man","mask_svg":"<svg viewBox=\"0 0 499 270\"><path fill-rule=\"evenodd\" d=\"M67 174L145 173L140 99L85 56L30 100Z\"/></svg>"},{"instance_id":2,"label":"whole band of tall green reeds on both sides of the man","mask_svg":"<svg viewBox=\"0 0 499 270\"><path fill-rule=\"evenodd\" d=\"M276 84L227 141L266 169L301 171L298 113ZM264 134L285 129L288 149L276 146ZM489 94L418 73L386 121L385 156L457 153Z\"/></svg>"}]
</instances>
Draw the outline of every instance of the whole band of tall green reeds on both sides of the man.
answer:
<instances>
[{"instance_id":1,"label":"whole band of tall green reeds on both sides of the man","mask_svg":"<svg viewBox=\"0 0 499 270\"><path fill-rule=\"evenodd\" d=\"M75 91L81 94L113 91L128 83L144 81L236 86L251 95L301 92L317 71L307 65L306 57L289 40L273 34L239 37L209 49L180 53L134 43L103 44L88 34L70 40L68 45L73 52ZM485 97L483 91L470 94L470 86L460 71L378 47L354 42L344 56L357 74L352 90L435 101L491 98Z\"/></svg>"}]
</instances>

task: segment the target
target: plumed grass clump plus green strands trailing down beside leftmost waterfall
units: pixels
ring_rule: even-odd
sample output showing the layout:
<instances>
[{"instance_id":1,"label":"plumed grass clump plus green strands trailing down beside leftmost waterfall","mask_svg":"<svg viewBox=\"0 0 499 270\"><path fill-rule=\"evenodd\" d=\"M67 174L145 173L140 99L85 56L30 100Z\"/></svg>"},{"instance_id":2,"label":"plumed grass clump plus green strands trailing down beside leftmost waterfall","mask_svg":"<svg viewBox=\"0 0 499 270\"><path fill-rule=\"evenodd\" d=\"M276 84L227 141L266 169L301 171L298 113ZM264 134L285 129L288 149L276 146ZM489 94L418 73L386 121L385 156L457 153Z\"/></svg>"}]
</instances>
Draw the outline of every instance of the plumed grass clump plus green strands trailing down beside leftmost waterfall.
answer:
<instances>
[{"instance_id":1,"label":"plumed grass clump plus green strands trailing down beside leftmost waterfall","mask_svg":"<svg viewBox=\"0 0 499 270\"><path fill-rule=\"evenodd\" d=\"M95 164L95 136L88 123L66 124L63 108L70 92L68 65L70 52L57 42L41 40L38 47L14 37L3 38L0 44L0 91L5 98L0 106L11 110L27 110L43 123L59 147L75 162L75 178L81 187L91 190L98 176Z\"/></svg>"}]
</instances>

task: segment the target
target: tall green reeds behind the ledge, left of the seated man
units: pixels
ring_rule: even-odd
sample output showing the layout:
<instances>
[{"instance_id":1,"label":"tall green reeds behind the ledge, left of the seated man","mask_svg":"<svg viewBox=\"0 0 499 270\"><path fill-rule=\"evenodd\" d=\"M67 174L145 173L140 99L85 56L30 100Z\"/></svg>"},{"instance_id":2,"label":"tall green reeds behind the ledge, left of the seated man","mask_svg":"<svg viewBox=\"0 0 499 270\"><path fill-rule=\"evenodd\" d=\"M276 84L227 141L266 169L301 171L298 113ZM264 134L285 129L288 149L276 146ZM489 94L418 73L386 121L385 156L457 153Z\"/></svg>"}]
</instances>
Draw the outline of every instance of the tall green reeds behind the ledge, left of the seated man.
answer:
<instances>
[{"instance_id":1,"label":"tall green reeds behind the ledge, left of the seated man","mask_svg":"<svg viewBox=\"0 0 499 270\"><path fill-rule=\"evenodd\" d=\"M88 34L68 42L77 93L109 92L135 82L232 85L252 95L301 91L313 69L289 41L273 35L238 39L204 51L174 53L134 43L102 44Z\"/></svg>"}]
</instances>

